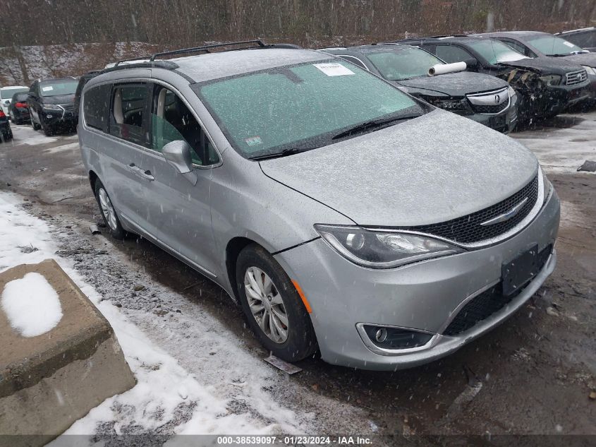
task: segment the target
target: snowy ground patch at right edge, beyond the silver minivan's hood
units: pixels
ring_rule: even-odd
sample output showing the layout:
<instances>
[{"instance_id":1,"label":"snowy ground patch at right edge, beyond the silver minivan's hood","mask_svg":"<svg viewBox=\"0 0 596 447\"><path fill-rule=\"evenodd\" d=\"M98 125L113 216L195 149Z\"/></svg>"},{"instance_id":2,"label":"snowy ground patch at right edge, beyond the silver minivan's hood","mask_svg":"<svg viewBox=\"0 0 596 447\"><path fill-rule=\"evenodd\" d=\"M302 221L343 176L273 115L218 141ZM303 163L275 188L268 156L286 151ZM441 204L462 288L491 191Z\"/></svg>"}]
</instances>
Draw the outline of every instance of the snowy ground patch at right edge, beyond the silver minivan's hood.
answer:
<instances>
[{"instance_id":1,"label":"snowy ground patch at right edge, beyond the silver minivan's hood","mask_svg":"<svg viewBox=\"0 0 596 447\"><path fill-rule=\"evenodd\" d=\"M511 137L532 150L547 173L574 173L585 160L596 160L596 112L561 115L557 120L574 125L511 133Z\"/></svg>"}]
</instances>

